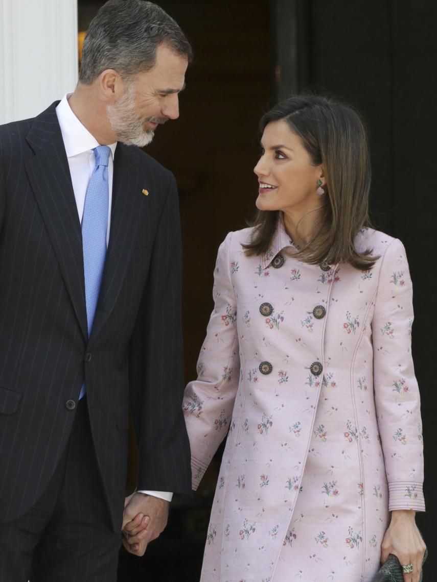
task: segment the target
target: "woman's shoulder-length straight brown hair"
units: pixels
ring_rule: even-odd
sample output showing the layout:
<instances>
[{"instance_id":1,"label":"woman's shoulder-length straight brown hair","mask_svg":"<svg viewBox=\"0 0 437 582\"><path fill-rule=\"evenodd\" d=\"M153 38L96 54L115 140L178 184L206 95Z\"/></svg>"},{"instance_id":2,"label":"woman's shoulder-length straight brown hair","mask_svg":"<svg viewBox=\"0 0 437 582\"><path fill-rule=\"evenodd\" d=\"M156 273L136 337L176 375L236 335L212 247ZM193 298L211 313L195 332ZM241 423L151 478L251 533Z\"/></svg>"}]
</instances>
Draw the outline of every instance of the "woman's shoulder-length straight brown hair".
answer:
<instances>
[{"instance_id":1,"label":"woman's shoulder-length straight brown hair","mask_svg":"<svg viewBox=\"0 0 437 582\"><path fill-rule=\"evenodd\" d=\"M358 251L354 240L371 226L368 200L371 184L369 146L364 122L353 107L320 95L295 95L275 105L260 120L260 130L285 121L302 140L311 162L325 169L326 204L316 232L295 258L309 264L347 262L357 269L373 267L371 249ZM244 245L249 256L265 254L279 220L279 211L258 210L251 222L252 240Z\"/></svg>"}]
</instances>

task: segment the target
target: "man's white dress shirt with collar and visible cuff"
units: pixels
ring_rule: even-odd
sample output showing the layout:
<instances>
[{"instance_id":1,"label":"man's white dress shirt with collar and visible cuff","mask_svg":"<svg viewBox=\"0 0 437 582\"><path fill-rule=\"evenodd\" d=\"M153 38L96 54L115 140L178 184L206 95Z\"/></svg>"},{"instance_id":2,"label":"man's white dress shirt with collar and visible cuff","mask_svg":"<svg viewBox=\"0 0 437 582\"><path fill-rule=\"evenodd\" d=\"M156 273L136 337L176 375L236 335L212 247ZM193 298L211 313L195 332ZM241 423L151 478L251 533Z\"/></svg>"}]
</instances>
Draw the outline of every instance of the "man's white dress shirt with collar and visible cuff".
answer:
<instances>
[{"instance_id":1,"label":"man's white dress shirt with collar and visible cuff","mask_svg":"<svg viewBox=\"0 0 437 582\"><path fill-rule=\"evenodd\" d=\"M77 213L82 223L83 207L85 204L85 195L88 183L96 167L96 157L93 148L100 145L96 138L80 123L73 113L68 99L71 93L64 95L56 108L59 126L61 126L62 139L64 140L65 151L70 168L73 191L75 193ZM114 155L117 142L109 144L111 155L108 161L108 183L109 183L109 210L108 210L108 230L106 233L106 246L108 246L110 226L111 226L111 207L112 207L112 176L114 174ZM153 495L165 501L171 501L173 494L167 491L138 491L147 495Z\"/></svg>"}]
</instances>

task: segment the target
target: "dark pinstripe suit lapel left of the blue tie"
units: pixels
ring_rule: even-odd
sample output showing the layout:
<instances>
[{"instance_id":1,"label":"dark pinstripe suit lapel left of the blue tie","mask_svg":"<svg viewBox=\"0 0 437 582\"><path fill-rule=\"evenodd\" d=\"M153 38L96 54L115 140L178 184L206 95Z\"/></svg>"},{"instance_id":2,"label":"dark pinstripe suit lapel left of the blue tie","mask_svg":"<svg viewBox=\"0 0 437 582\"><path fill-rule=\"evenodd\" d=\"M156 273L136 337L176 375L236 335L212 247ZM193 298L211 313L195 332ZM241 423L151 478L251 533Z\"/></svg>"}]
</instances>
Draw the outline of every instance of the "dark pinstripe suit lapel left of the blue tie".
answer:
<instances>
[{"instance_id":1,"label":"dark pinstripe suit lapel left of the blue tie","mask_svg":"<svg viewBox=\"0 0 437 582\"><path fill-rule=\"evenodd\" d=\"M82 232L56 105L57 102L34 120L27 142L36 155L27 162L26 172L87 339Z\"/></svg>"}]
</instances>

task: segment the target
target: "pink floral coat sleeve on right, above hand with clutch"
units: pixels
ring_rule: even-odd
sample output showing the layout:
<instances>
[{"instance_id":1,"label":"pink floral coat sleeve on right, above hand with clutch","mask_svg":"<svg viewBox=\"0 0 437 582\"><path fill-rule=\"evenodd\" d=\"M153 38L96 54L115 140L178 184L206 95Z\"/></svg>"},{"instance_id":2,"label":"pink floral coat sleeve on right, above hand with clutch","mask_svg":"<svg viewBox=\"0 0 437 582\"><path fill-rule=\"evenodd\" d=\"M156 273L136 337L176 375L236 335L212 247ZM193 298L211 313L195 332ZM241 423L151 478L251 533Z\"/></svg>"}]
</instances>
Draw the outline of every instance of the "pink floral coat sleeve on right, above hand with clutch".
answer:
<instances>
[{"instance_id":1,"label":"pink floral coat sleeve on right, above hand with clutch","mask_svg":"<svg viewBox=\"0 0 437 582\"><path fill-rule=\"evenodd\" d=\"M389 484L389 510L424 511L420 395L411 356L413 288L395 239L382 258L372 319L376 415Z\"/></svg>"}]
</instances>

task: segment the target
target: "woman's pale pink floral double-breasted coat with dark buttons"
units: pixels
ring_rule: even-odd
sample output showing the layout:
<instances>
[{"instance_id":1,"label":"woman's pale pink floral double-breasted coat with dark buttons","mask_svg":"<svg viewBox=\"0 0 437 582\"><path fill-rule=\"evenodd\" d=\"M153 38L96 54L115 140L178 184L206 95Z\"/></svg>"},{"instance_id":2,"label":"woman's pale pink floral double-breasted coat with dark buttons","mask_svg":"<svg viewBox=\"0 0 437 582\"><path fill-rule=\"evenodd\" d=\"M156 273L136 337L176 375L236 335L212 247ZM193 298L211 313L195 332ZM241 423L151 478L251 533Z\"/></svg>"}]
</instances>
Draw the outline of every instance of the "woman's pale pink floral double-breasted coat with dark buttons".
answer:
<instances>
[{"instance_id":1,"label":"woman's pale pink floral double-breasted coat with dark buttons","mask_svg":"<svg viewBox=\"0 0 437 582\"><path fill-rule=\"evenodd\" d=\"M228 434L202 581L369 581L389 510L424 510L404 247L364 229L371 271L309 265L280 223L218 251L215 307L185 391L196 488Z\"/></svg>"}]
</instances>

